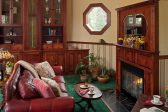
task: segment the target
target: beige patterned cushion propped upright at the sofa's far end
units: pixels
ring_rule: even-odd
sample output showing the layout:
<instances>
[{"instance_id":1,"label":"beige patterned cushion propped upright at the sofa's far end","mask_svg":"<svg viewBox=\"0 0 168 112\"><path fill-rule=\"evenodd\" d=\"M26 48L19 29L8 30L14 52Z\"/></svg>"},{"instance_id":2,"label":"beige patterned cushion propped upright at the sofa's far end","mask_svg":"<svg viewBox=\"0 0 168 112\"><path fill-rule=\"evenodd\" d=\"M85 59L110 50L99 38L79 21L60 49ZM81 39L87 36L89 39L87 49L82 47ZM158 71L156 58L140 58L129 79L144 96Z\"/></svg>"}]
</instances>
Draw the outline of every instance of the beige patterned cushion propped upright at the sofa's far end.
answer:
<instances>
[{"instance_id":1,"label":"beige patterned cushion propped upright at the sofa's far end","mask_svg":"<svg viewBox=\"0 0 168 112\"><path fill-rule=\"evenodd\" d=\"M35 64L35 69L41 77L52 78L55 76L53 68L47 61Z\"/></svg>"}]
</instances>

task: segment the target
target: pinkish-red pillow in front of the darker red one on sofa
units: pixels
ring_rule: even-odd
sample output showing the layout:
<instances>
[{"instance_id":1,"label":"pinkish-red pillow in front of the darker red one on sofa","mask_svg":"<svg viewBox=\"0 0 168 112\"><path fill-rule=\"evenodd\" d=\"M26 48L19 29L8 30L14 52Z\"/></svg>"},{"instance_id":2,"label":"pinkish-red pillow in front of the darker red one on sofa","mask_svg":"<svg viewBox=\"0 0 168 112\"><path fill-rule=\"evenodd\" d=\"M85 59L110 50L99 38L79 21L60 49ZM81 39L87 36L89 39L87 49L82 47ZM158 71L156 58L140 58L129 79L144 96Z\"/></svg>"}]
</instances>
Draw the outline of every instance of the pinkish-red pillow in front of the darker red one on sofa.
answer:
<instances>
[{"instance_id":1,"label":"pinkish-red pillow in front of the darker red one on sofa","mask_svg":"<svg viewBox=\"0 0 168 112\"><path fill-rule=\"evenodd\" d=\"M43 80L34 78L33 85L35 86L36 90L41 94L43 98L55 97L54 92L52 91L51 87L47 83L45 83Z\"/></svg>"}]
</instances>

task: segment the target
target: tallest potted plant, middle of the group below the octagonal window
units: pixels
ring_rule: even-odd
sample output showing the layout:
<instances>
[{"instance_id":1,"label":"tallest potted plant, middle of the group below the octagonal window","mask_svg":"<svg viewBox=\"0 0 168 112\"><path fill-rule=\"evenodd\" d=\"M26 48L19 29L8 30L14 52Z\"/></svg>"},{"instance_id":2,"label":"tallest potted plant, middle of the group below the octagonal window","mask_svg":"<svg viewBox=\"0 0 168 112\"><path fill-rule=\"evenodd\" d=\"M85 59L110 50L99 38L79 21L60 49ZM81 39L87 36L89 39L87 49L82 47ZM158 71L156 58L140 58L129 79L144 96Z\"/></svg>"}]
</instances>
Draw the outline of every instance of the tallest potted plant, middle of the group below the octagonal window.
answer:
<instances>
[{"instance_id":1,"label":"tallest potted plant, middle of the group below the octagonal window","mask_svg":"<svg viewBox=\"0 0 168 112\"><path fill-rule=\"evenodd\" d=\"M98 74L100 73L100 64L99 57L94 56L93 53L90 53L86 58L89 60L89 70L92 75L92 79L97 79Z\"/></svg>"}]
</instances>

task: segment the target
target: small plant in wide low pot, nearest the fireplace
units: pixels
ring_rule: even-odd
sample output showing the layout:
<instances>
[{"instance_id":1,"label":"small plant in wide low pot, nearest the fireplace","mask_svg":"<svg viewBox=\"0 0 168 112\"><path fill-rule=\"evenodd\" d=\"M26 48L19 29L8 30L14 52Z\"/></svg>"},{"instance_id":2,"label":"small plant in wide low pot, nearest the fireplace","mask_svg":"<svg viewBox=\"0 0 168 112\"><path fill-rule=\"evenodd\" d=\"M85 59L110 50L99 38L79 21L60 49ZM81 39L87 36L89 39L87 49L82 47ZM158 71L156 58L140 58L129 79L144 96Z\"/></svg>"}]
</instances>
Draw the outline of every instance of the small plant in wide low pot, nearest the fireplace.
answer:
<instances>
[{"instance_id":1,"label":"small plant in wide low pot, nearest the fireplace","mask_svg":"<svg viewBox=\"0 0 168 112\"><path fill-rule=\"evenodd\" d=\"M101 69L101 75L97 77L98 81L101 83L107 83L110 79L109 76L109 70L107 70L105 67Z\"/></svg>"}]
</instances>

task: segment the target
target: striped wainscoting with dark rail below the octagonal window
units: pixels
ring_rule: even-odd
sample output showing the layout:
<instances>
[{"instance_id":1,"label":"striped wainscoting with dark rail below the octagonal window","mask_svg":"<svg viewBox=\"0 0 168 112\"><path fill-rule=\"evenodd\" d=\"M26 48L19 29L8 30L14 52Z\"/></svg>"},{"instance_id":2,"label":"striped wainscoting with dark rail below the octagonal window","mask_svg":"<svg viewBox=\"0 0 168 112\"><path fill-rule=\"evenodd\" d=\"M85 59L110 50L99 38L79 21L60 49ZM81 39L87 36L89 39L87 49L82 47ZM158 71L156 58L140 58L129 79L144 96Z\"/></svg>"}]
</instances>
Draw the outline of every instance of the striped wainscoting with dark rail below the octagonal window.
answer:
<instances>
[{"instance_id":1,"label":"striped wainscoting with dark rail below the octagonal window","mask_svg":"<svg viewBox=\"0 0 168 112\"><path fill-rule=\"evenodd\" d=\"M114 44L68 41L68 48L90 49L89 53L94 53L95 56L101 58L101 65L116 69L116 46Z\"/></svg>"}]
</instances>

